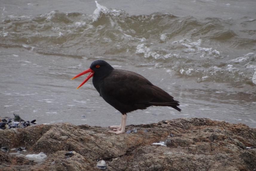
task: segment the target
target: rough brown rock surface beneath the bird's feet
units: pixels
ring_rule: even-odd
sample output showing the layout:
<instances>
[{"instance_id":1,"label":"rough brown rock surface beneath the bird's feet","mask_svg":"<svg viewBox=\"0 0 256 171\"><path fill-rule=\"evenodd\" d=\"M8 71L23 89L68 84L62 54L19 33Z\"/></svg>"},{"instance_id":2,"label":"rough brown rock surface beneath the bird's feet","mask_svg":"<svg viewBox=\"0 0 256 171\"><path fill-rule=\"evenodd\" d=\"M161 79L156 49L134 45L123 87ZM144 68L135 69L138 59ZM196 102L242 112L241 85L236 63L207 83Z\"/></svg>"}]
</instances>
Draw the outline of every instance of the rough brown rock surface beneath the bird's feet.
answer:
<instances>
[{"instance_id":1,"label":"rough brown rock surface beneath the bird's feet","mask_svg":"<svg viewBox=\"0 0 256 171\"><path fill-rule=\"evenodd\" d=\"M128 125L137 133L69 123L0 130L0 146L26 147L22 154L47 155L38 163L0 151L0 170L256 170L256 129L206 118ZM145 131L146 130L146 131ZM154 142L165 145L154 145ZM73 151L72 155L66 155Z\"/></svg>"}]
</instances>

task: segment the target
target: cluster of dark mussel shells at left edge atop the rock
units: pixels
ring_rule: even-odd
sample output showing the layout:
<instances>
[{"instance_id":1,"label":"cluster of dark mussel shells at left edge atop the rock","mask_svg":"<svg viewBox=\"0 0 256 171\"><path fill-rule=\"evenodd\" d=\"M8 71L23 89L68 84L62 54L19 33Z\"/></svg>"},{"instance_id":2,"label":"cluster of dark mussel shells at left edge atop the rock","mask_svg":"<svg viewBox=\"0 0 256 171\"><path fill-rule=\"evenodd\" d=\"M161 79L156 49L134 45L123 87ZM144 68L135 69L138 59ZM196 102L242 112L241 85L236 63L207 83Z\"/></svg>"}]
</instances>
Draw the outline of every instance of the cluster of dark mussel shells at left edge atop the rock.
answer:
<instances>
[{"instance_id":1,"label":"cluster of dark mussel shells at left edge atop the rock","mask_svg":"<svg viewBox=\"0 0 256 171\"><path fill-rule=\"evenodd\" d=\"M36 119L32 121L24 121L18 114L13 113L14 118L4 118L1 119L0 129L10 129L10 128L25 128L30 126L30 124L36 124Z\"/></svg>"}]
</instances>

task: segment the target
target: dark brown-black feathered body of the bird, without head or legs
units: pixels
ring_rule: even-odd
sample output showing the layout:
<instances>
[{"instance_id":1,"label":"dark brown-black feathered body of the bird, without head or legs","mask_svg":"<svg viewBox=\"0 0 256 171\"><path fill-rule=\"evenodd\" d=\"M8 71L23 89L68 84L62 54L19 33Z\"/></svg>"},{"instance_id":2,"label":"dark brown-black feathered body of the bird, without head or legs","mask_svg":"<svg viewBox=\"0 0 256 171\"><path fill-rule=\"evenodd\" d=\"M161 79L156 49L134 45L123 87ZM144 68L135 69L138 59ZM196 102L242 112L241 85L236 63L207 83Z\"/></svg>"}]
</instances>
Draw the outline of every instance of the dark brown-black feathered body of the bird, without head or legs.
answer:
<instances>
[{"instance_id":1,"label":"dark brown-black feathered body of the bird, without head or legs","mask_svg":"<svg viewBox=\"0 0 256 171\"><path fill-rule=\"evenodd\" d=\"M101 79L97 79L95 73L93 85L103 99L122 114L149 106L170 106L181 111L171 95L132 71L113 69Z\"/></svg>"}]
</instances>

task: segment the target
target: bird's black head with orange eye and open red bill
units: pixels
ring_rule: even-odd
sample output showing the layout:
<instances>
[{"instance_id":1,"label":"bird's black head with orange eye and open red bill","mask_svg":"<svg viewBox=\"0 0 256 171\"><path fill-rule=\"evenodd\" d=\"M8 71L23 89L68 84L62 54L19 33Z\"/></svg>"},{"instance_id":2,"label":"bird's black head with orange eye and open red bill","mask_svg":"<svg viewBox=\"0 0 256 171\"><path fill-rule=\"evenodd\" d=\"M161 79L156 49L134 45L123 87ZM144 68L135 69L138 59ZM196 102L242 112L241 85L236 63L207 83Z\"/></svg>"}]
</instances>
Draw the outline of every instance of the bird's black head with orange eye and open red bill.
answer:
<instances>
[{"instance_id":1,"label":"bird's black head with orange eye and open red bill","mask_svg":"<svg viewBox=\"0 0 256 171\"><path fill-rule=\"evenodd\" d=\"M104 60L95 60L95 61L93 61L93 63L91 64L89 69L81 72L80 74L77 74L71 80L90 72L88 77L76 88L76 89L78 89L82 85L84 85L91 77L95 76L95 77L102 77L103 78L103 77L107 76L108 74L110 74L110 72L113 69L114 68Z\"/></svg>"}]
</instances>

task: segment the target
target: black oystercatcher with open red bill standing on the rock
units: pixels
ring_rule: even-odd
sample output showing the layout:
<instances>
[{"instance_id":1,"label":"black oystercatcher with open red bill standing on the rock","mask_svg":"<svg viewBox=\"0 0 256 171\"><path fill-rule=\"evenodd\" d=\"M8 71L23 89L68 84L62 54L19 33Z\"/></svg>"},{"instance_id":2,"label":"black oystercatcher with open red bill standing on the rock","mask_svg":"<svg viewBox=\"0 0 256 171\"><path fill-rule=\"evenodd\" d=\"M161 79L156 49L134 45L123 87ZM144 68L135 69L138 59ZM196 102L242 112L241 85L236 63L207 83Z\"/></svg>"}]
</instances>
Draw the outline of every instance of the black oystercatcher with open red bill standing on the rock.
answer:
<instances>
[{"instance_id":1,"label":"black oystercatcher with open red bill standing on the rock","mask_svg":"<svg viewBox=\"0 0 256 171\"><path fill-rule=\"evenodd\" d=\"M125 133L126 114L131 111L146 109L149 106L170 106L181 111L177 107L179 106L178 101L140 74L114 69L104 60L95 60L89 69L76 75L72 80L88 72L90 74L77 89L93 77L92 82L99 95L121 112L121 124L110 126L110 128L114 128L113 131L110 131L112 133Z\"/></svg>"}]
</instances>

